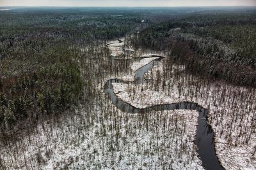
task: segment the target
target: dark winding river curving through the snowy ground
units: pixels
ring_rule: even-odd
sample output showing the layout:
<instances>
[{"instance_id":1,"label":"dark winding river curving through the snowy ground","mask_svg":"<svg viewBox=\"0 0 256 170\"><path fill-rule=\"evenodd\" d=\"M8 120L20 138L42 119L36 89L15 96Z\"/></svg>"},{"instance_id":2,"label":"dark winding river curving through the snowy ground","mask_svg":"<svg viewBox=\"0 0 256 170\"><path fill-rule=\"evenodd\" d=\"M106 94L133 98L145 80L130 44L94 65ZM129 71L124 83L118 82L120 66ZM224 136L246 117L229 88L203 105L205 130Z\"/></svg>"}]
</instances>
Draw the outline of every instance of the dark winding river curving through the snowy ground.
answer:
<instances>
[{"instance_id":1,"label":"dark winding river curving through the snowy ground","mask_svg":"<svg viewBox=\"0 0 256 170\"><path fill-rule=\"evenodd\" d=\"M124 83L124 84L138 84L145 83L144 73L150 70L160 59L153 60L149 64L136 70L134 81L123 81L120 79L111 79L106 81L104 85L104 91L109 99L115 104L116 108L124 111L125 113L146 113L148 111L163 111L163 110L196 110L199 113L198 116L198 126L196 127L195 145L198 147L198 155L202 160L202 166L205 169L224 169L218 158L216 157L216 150L214 146L214 132L212 131L211 125L207 123L208 110L204 107L191 102L181 102L172 104L157 104L147 108L135 108L129 103L122 101L113 92L112 83ZM148 80L149 81L149 80Z\"/></svg>"}]
</instances>

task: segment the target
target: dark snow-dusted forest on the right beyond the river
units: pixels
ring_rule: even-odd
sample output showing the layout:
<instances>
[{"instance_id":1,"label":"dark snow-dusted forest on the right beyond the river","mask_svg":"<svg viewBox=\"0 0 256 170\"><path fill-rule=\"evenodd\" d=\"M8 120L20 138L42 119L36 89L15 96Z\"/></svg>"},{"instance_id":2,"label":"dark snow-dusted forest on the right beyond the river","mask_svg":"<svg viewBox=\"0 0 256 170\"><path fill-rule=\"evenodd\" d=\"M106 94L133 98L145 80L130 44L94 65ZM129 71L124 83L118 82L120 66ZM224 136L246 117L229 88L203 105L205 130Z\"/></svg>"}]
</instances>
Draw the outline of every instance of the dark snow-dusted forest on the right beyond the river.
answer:
<instances>
[{"instance_id":1,"label":"dark snow-dusted forest on the right beyond the river","mask_svg":"<svg viewBox=\"0 0 256 170\"><path fill-rule=\"evenodd\" d=\"M139 48L167 50L187 71L236 85L256 86L255 13L198 15L140 32Z\"/></svg>"}]
</instances>

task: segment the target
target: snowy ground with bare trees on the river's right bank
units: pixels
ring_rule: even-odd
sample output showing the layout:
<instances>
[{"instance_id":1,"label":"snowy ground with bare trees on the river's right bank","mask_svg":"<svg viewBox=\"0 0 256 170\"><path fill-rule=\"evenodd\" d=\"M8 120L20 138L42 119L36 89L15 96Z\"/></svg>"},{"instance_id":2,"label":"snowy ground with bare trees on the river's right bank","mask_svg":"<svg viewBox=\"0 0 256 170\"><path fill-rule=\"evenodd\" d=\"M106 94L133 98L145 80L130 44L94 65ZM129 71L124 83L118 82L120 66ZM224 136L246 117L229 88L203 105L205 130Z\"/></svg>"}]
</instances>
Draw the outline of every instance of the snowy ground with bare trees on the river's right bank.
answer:
<instances>
[{"instance_id":1,"label":"snowy ground with bare trees on the river's right bank","mask_svg":"<svg viewBox=\"0 0 256 170\"><path fill-rule=\"evenodd\" d=\"M242 99L243 92L248 89L218 82L201 87L196 85L198 80L195 77L182 76L183 70L184 66L173 66L168 73L179 73L179 76L168 76L166 80L163 63L160 62L145 74L145 78L153 81L140 85L113 83L114 92L120 99L137 108L179 101L193 101L210 108L210 122L216 134L216 153L221 164L226 169L256 169L255 113L250 111L250 108L255 107L255 97L237 101L237 108L231 108L235 107L231 99ZM193 82L195 84L191 84ZM221 96L228 99L221 99ZM232 124L236 113L233 111L245 111L246 115L241 118L241 122ZM248 141L244 142L246 139Z\"/></svg>"}]
</instances>

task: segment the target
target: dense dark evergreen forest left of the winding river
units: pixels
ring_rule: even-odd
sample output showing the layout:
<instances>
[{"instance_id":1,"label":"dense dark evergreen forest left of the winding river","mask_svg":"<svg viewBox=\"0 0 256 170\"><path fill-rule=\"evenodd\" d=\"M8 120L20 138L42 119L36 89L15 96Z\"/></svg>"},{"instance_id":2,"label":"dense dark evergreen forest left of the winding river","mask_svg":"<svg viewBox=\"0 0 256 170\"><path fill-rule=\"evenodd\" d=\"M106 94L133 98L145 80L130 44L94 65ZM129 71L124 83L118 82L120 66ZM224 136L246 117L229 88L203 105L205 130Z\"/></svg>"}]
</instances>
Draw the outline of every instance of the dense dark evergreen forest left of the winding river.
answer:
<instances>
[{"instance_id":1,"label":"dense dark evergreen forest left of the winding river","mask_svg":"<svg viewBox=\"0 0 256 170\"><path fill-rule=\"evenodd\" d=\"M41 113L62 112L77 103L91 82L81 80L76 45L124 36L139 20L133 14L114 20L109 13L1 13L2 132L20 119L36 120Z\"/></svg>"}]
</instances>

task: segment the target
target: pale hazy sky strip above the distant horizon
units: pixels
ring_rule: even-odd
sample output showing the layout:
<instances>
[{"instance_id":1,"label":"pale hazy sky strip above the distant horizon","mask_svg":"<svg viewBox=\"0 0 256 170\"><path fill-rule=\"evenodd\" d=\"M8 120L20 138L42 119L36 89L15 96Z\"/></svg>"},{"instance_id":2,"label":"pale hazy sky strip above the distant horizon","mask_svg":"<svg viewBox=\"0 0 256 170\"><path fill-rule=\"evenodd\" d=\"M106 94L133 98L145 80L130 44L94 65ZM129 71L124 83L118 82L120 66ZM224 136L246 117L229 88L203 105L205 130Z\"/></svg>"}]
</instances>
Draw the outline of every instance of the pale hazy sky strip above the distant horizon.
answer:
<instances>
[{"instance_id":1,"label":"pale hazy sky strip above the distant horizon","mask_svg":"<svg viewBox=\"0 0 256 170\"><path fill-rule=\"evenodd\" d=\"M256 6L256 0L0 0L0 6Z\"/></svg>"}]
</instances>

